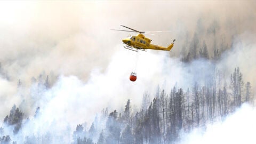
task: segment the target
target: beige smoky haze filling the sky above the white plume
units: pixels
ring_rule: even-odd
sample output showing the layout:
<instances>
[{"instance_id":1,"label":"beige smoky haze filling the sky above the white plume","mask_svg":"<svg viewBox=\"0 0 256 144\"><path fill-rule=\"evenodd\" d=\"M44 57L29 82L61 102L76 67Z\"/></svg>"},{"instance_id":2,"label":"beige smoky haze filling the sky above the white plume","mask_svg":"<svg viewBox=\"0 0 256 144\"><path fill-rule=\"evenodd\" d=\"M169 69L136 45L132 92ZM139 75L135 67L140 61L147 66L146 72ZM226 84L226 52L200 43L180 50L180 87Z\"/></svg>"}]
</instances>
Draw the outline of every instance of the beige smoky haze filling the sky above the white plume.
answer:
<instances>
[{"instance_id":1,"label":"beige smoky haze filling the sky above the white plume","mask_svg":"<svg viewBox=\"0 0 256 144\"><path fill-rule=\"evenodd\" d=\"M28 84L43 70L86 81L92 68L106 68L129 34L110 28L172 30L149 37L163 46L177 39L171 53L178 54L186 34L191 39L214 21L216 36L228 43L255 34L254 6L254 1L2 1L0 62L15 82ZM213 35L206 34L199 38L211 49Z\"/></svg>"}]
</instances>

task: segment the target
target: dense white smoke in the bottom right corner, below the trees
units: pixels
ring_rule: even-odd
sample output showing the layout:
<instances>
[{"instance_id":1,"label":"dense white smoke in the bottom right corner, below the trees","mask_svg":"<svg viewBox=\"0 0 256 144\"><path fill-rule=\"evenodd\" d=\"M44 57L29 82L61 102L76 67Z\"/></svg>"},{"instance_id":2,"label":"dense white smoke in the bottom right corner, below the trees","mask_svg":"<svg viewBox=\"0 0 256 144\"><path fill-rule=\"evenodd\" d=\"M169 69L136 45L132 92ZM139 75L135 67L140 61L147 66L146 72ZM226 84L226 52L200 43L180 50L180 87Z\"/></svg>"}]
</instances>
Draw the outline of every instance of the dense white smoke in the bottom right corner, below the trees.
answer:
<instances>
[{"instance_id":1,"label":"dense white smoke in the bottom right corner, below the trees","mask_svg":"<svg viewBox=\"0 0 256 144\"><path fill-rule=\"evenodd\" d=\"M254 143L255 113L255 107L244 104L223 122L183 134L180 143Z\"/></svg>"}]
</instances>

